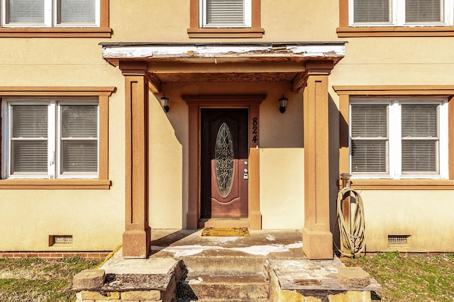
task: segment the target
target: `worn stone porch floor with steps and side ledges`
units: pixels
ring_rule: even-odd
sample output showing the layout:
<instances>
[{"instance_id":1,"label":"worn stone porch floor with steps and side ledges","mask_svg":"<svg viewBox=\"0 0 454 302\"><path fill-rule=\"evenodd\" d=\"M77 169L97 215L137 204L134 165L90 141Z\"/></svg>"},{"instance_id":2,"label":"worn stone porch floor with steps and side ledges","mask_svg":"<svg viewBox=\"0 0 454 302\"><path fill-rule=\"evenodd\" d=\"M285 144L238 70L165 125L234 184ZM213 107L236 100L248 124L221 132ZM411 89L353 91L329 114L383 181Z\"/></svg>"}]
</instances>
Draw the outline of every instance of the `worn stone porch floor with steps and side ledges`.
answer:
<instances>
[{"instance_id":1,"label":"worn stone porch floor with steps and side ledges","mask_svg":"<svg viewBox=\"0 0 454 302\"><path fill-rule=\"evenodd\" d=\"M77 301L371 301L380 290L369 276L339 274L336 257L309 260L301 230L249 230L246 237L201 232L153 230L147 259L117 251L94 272L105 276L92 289L74 277Z\"/></svg>"}]
</instances>

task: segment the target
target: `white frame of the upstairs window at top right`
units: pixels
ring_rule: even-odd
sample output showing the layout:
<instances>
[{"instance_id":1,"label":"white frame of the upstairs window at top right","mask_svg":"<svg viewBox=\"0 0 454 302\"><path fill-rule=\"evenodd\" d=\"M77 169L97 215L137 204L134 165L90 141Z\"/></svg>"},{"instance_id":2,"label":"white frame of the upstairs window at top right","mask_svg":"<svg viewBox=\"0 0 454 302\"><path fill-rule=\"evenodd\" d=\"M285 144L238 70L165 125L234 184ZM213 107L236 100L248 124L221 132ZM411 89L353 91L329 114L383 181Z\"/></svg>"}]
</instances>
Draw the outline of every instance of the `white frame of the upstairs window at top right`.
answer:
<instances>
[{"instance_id":1,"label":"white frame of the upstairs window at top right","mask_svg":"<svg viewBox=\"0 0 454 302\"><path fill-rule=\"evenodd\" d=\"M405 22L405 0L389 0L391 9L390 22L355 22L354 0L348 1L348 16L349 26L353 27L387 27L387 26L402 26L402 27L421 27L421 26L453 26L454 24L454 1L441 0L441 22Z\"/></svg>"}]
</instances>

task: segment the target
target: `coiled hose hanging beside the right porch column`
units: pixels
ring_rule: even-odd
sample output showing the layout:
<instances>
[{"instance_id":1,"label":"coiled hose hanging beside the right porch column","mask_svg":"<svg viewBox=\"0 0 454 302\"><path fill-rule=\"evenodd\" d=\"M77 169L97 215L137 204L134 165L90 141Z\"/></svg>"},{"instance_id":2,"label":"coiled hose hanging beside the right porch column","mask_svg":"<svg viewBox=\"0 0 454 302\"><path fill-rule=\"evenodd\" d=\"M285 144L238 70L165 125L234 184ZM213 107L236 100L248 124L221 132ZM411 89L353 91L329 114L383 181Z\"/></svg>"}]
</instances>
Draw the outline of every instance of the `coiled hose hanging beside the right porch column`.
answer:
<instances>
[{"instance_id":1,"label":"coiled hose hanging beside the right porch column","mask_svg":"<svg viewBox=\"0 0 454 302\"><path fill-rule=\"evenodd\" d=\"M350 203L352 198L356 203L355 213L350 214L350 225L347 225L343 215L343 202ZM350 186L341 189L338 193L338 227L341 239L341 248L338 247L338 251L341 255L354 258L355 255L365 252L364 220L364 208L359 192Z\"/></svg>"}]
</instances>

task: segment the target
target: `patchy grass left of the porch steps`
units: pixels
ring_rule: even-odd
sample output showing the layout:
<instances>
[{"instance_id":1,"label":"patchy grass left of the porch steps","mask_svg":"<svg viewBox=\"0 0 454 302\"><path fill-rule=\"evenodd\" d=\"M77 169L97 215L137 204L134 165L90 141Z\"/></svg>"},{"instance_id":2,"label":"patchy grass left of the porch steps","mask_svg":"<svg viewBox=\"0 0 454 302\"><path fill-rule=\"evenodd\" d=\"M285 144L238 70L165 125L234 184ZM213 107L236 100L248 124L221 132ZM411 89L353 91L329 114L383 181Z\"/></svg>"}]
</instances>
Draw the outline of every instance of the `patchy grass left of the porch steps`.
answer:
<instances>
[{"instance_id":1,"label":"patchy grass left of the porch steps","mask_svg":"<svg viewBox=\"0 0 454 302\"><path fill-rule=\"evenodd\" d=\"M64 292L72 277L99 263L81 257L56 260L0 258L0 301L73 302L75 293Z\"/></svg>"}]
</instances>

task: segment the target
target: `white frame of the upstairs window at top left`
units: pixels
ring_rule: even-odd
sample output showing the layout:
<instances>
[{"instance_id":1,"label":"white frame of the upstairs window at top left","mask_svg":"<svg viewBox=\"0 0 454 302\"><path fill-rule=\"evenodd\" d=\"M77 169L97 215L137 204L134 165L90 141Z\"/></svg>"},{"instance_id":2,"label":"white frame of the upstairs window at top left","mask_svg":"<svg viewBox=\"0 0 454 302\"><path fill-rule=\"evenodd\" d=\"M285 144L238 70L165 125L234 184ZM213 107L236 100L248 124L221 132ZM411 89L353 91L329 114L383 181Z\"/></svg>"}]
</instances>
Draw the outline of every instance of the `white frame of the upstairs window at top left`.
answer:
<instances>
[{"instance_id":1,"label":"white frame of the upstairs window at top left","mask_svg":"<svg viewBox=\"0 0 454 302\"><path fill-rule=\"evenodd\" d=\"M60 0L44 0L44 22L43 23L7 23L6 8L9 0L1 0L1 26L7 28L92 28L101 24L101 1L95 0L95 22L94 23L58 23L58 2Z\"/></svg>"}]
</instances>

